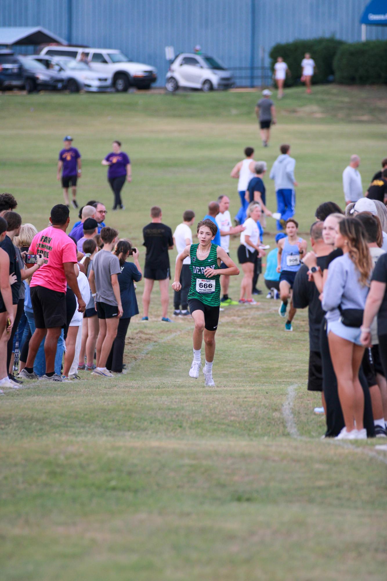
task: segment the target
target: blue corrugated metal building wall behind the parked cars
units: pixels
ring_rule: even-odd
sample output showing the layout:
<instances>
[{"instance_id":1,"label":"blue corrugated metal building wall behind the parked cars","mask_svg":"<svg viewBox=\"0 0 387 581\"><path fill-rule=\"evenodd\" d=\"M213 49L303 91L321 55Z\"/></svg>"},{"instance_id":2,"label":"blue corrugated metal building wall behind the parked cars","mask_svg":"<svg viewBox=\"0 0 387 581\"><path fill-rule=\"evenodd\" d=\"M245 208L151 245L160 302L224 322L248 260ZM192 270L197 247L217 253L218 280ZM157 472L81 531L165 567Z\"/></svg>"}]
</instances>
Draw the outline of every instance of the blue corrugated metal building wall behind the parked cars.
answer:
<instances>
[{"instance_id":1,"label":"blue corrugated metal building wall behind the parked cars","mask_svg":"<svg viewBox=\"0 0 387 581\"><path fill-rule=\"evenodd\" d=\"M71 44L120 48L129 58L156 66L158 84L163 84L166 45L173 45L177 53L200 44L234 68L249 66L254 36L255 64L261 64L261 46L269 64L268 53L277 42L331 35L360 41L359 20L366 4L367 0L1 0L0 26L44 26ZM387 27L367 27L367 39L377 38L387 39Z\"/></svg>"}]
</instances>

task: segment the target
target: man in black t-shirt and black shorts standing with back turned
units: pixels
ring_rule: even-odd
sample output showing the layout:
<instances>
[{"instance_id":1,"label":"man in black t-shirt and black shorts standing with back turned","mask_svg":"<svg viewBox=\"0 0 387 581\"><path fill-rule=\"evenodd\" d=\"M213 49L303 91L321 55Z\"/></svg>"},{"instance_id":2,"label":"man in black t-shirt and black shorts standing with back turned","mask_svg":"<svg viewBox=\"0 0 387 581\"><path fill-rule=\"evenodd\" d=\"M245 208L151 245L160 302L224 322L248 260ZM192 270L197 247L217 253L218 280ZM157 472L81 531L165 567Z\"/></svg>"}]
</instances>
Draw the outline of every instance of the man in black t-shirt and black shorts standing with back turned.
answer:
<instances>
[{"instance_id":1,"label":"man in black t-shirt and black shorts standing with back turned","mask_svg":"<svg viewBox=\"0 0 387 581\"><path fill-rule=\"evenodd\" d=\"M161 208L153 206L150 209L150 224L143 228L144 243L146 248L145 267L144 267L144 292L143 292L143 318L142 321L149 319L150 295L153 289L154 281L159 281L161 294L161 320L172 322L168 318L169 302L169 255L168 250L173 248L172 230L169 226L161 223Z\"/></svg>"}]
</instances>

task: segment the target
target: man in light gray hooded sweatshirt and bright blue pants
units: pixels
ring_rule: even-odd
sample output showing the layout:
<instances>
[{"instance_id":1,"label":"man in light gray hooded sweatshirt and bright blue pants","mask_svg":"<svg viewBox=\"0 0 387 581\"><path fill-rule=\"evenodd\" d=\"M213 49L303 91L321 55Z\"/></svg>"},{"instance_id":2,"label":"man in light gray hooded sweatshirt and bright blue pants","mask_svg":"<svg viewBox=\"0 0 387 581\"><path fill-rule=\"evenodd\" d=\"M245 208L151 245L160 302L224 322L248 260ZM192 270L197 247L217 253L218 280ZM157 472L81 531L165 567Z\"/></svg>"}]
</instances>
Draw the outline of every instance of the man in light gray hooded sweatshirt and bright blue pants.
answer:
<instances>
[{"instance_id":1,"label":"man in light gray hooded sweatshirt and bright blue pants","mask_svg":"<svg viewBox=\"0 0 387 581\"><path fill-rule=\"evenodd\" d=\"M273 163L270 180L274 180L277 196L277 212L281 214L277 220L277 230L282 230L285 221L295 214L295 190L298 186L294 178L295 159L290 157L290 145L280 146L281 155Z\"/></svg>"}]
</instances>

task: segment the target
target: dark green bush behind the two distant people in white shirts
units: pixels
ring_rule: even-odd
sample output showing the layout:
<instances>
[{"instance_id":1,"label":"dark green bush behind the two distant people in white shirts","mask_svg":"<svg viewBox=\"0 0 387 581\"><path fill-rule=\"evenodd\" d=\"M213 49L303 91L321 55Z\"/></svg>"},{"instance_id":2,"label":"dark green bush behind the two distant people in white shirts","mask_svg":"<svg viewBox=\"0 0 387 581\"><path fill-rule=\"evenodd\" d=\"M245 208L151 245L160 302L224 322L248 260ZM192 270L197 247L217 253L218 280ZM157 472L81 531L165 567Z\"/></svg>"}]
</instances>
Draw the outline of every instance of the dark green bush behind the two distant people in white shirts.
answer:
<instances>
[{"instance_id":1,"label":"dark green bush behind the two distant people in white shirts","mask_svg":"<svg viewBox=\"0 0 387 581\"><path fill-rule=\"evenodd\" d=\"M291 87L301 78L301 61L306 52L316 63L317 73L313 76L313 84L327 83L334 74L333 61L338 50L346 43L336 38L310 38L310 40L295 40L285 44L276 44L270 51L271 66L274 70L277 56L282 56L287 63L291 77L287 77L285 85Z\"/></svg>"}]
</instances>

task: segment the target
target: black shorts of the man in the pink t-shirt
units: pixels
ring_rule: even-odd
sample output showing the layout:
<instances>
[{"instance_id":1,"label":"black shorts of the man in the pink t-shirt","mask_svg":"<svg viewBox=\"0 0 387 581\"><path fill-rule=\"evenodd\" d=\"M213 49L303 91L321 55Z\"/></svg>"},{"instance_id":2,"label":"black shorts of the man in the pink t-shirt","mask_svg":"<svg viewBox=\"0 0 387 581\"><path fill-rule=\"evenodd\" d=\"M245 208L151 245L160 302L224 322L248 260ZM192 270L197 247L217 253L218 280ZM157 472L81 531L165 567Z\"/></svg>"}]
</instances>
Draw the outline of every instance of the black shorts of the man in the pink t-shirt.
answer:
<instances>
[{"instance_id":1,"label":"black shorts of the man in the pink t-shirt","mask_svg":"<svg viewBox=\"0 0 387 581\"><path fill-rule=\"evenodd\" d=\"M45 286L31 286L30 295L37 329L66 327L66 293Z\"/></svg>"}]
</instances>

